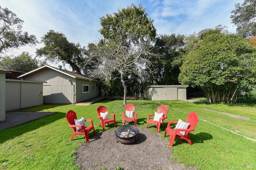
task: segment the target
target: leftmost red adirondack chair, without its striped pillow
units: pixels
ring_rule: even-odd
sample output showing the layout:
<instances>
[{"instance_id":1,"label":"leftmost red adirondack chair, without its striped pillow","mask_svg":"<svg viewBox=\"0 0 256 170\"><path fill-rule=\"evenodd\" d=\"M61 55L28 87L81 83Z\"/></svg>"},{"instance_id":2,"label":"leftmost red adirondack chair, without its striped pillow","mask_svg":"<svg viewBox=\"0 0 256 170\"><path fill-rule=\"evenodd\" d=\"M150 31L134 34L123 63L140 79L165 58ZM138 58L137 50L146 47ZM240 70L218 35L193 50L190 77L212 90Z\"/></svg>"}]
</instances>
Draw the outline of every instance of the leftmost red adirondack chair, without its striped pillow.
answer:
<instances>
[{"instance_id":1,"label":"leftmost red adirondack chair, without its striped pillow","mask_svg":"<svg viewBox=\"0 0 256 170\"><path fill-rule=\"evenodd\" d=\"M90 126L88 126L88 127L84 127L84 125L75 125L74 119L77 119L77 117L76 117L76 112L74 112L72 110L69 110L66 113L66 119L69 123L69 126L72 127L72 129L73 129L73 133L72 133L70 141L72 141L72 139L75 135L80 135L81 133L84 133L86 143L89 143L89 132L93 130L94 135L96 135L95 129L94 129L94 126L93 126L93 123L92 123L92 119L86 119L85 120L85 121L90 122ZM82 129L77 131L76 127L82 127Z\"/></svg>"}]
</instances>

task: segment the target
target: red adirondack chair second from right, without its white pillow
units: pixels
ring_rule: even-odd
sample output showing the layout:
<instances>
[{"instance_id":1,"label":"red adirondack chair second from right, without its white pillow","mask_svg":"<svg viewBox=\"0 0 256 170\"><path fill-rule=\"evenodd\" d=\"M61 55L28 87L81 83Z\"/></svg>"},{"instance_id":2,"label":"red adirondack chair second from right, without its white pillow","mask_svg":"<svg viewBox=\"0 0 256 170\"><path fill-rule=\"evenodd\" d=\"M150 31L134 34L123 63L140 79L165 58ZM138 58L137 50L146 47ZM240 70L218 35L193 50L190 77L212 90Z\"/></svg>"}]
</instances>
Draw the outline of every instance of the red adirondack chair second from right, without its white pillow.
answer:
<instances>
[{"instance_id":1,"label":"red adirondack chair second from right, without its white pillow","mask_svg":"<svg viewBox=\"0 0 256 170\"><path fill-rule=\"evenodd\" d=\"M147 126L146 126L146 128L148 128L148 123L153 124L153 125L156 125L156 132L158 133L158 132L159 132L159 129L160 129L160 125L164 125L164 119L167 118L166 115L167 115L167 113L168 113L168 108L167 108L166 106L164 106L164 105L159 106L158 109L157 109L157 113L164 113L164 114L163 114L163 117L161 117L161 118L159 119L159 121L154 121L154 120L150 119L150 117L151 117L151 116L154 116L155 114L150 114L150 115L148 115L148 120L147 120ZM164 127L165 127L165 125L164 125Z\"/></svg>"}]
</instances>

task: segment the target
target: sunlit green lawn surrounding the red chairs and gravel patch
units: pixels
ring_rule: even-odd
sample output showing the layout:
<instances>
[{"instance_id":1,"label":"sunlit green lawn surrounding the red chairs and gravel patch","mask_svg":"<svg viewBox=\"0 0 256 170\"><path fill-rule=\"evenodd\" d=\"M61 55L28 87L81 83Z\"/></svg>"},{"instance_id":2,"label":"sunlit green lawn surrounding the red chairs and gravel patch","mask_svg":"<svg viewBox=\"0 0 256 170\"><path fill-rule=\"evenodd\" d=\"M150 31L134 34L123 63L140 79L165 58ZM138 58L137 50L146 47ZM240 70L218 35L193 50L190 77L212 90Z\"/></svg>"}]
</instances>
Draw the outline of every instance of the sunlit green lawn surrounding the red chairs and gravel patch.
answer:
<instances>
[{"instance_id":1,"label":"sunlit green lawn surrounding the red chairs and gravel patch","mask_svg":"<svg viewBox=\"0 0 256 170\"><path fill-rule=\"evenodd\" d=\"M196 166L198 169L255 169L256 168L256 107L226 104L204 104L183 101L158 101L169 106L168 121L186 120L191 111L198 113L200 120L195 131L190 133L192 146L185 140L177 139L172 150L175 156L172 161L185 165ZM85 143L83 135L76 135L70 141L72 129L68 127L65 115L68 110L74 110L78 119L92 119L96 133L102 132L98 127L100 119L96 117L96 108L100 105L108 107L109 113L116 114L117 127L122 125L124 106L122 100L106 100L89 106L44 105L23 109L23 111L56 112L54 115L35 120L18 127L0 131L0 169L12 170L77 170L75 166L76 148ZM147 100L128 100L138 112L137 124L145 128L147 115L157 111L160 104ZM220 112L240 115L249 120L236 119ZM129 123L129 122L128 122ZM133 123L131 123L133 124ZM229 129L230 131L223 129ZM106 131L113 129L114 124L106 126ZM149 124L148 128L156 133L156 126ZM164 136L164 127L160 134ZM93 132L90 132L90 136ZM169 136L166 137L168 140Z\"/></svg>"}]
</instances>

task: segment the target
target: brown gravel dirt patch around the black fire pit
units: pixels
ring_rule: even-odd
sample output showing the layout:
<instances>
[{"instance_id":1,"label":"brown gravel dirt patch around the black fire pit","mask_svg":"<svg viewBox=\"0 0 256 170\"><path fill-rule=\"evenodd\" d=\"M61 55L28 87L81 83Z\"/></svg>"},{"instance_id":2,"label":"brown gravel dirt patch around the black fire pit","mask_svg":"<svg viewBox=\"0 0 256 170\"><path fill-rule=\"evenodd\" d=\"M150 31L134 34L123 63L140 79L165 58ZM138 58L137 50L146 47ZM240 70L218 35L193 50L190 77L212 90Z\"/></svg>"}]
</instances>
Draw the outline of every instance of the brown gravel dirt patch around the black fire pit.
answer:
<instances>
[{"instance_id":1,"label":"brown gravel dirt patch around the black fire pit","mask_svg":"<svg viewBox=\"0 0 256 170\"><path fill-rule=\"evenodd\" d=\"M84 143L77 149L76 164L82 170L196 170L172 161L169 148L170 137L162 139L161 134L150 132L149 129L138 127L140 133L137 143L124 145L117 142L115 130L96 133L90 137L90 143Z\"/></svg>"}]
</instances>

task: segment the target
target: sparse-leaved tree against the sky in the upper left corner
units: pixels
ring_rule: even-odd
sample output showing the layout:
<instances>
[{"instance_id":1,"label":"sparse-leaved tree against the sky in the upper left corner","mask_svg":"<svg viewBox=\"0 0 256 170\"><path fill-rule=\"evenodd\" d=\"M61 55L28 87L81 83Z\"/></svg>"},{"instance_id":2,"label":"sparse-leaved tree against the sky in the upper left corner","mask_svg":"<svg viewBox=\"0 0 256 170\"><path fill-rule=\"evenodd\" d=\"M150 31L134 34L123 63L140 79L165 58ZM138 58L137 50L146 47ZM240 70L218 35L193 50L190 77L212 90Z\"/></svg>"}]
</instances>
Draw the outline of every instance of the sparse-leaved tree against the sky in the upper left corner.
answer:
<instances>
[{"instance_id":1,"label":"sparse-leaved tree against the sky in the upper left corner","mask_svg":"<svg viewBox=\"0 0 256 170\"><path fill-rule=\"evenodd\" d=\"M35 35L22 31L23 22L8 8L0 6L0 54L12 48L35 45L38 42Z\"/></svg>"}]
</instances>

